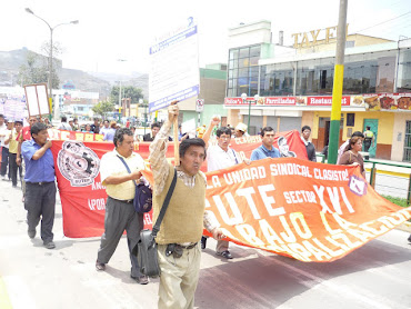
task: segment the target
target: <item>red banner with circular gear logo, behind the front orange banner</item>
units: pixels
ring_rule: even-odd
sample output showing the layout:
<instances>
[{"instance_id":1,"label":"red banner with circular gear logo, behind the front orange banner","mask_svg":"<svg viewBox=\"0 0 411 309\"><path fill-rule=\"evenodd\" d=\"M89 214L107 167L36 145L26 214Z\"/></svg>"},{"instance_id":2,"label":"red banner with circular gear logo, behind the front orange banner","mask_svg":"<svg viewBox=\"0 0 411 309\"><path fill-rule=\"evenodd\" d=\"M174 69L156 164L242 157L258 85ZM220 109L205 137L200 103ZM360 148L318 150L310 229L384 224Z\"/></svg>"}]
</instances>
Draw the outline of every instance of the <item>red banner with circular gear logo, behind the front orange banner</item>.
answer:
<instances>
[{"instance_id":1,"label":"red banner with circular gear logo, behind the front orange banner","mask_svg":"<svg viewBox=\"0 0 411 309\"><path fill-rule=\"evenodd\" d=\"M54 136L51 137L56 137L56 132L52 133ZM305 147L298 131L278 134L274 146L277 146L277 140L280 137L287 139L290 151L293 151L299 158L307 159ZM250 158L252 150L260 144L261 137L259 136L231 140L231 147L239 151L242 158ZM149 142L134 143L134 151L143 159L148 159L149 147ZM56 176L63 211L63 232L67 237L82 238L102 235L107 193L100 181L100 159L106 152L113 149L114 144L112 142L53 141L51 151L54 158ZM167 151L167 158L170 158L170 162L172 162L174 156L173 149L173 143L170 142ZM207 171L206 163L202 170ZM146 223L151 223L149 217L146 218Z\"/></svg>"}]
</instances>

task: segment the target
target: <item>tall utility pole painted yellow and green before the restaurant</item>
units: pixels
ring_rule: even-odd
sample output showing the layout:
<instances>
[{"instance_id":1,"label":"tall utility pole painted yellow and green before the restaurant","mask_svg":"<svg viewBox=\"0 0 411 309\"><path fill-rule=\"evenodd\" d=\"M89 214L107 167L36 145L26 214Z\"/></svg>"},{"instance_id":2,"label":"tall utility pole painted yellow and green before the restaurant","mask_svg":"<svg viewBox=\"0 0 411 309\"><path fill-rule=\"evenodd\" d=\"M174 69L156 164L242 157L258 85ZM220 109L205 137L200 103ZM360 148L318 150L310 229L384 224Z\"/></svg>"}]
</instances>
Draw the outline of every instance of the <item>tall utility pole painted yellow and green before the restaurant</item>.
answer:
<instances>
[{"instance_id":1,"label":"tall utility pole painted yellow and green before the restaurant","mask_svg":"<svg viewBox=\"0 0 411 309\"><path fill-rule=\"evenodd\" d=\"M337 49L334 66L334 83L332 88L332 109L329 137L328 162L337 163L337 151L340 137L341 99L344 80L344 52L347 34L347 6L348 0L340 0L340 11L337 27Z\"/></svg>"}]
</instances>

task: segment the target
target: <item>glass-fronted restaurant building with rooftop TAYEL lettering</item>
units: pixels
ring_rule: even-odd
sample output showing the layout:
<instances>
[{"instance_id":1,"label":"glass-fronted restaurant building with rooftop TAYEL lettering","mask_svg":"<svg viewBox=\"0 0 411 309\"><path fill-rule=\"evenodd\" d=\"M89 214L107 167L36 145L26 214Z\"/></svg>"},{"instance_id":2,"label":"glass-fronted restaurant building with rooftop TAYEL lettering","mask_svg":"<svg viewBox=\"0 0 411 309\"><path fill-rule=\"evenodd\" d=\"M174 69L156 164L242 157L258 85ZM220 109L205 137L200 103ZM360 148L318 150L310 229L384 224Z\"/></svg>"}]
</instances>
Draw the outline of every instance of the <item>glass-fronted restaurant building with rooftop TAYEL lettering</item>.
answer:
<instances>
[{"instance_id":1,"label":"glass-fronted restaurant building with rooftop TAYEL lettering","mask_svg":"<svg viewBox=\"0 0 411 309\"><path fill-rule=\"evenodd\" d=\"M243 40L238 28L247 33ZM317 41L298 33L297 48L291 48L267 41L267 21L238 28L230 29L235 44L228 62L229 121L248 123L250 114L250 134L264 126L287 131L308 124L321 151L329 138L335 53L330 36L335 33L324 29L325 38ZM248 43L249 32L265 33L257 36L265 40ZM377 141L371 157L411 161L410 79L411 40L348 36L340 142L370 126Z\"/></svg>"}]
</instances>

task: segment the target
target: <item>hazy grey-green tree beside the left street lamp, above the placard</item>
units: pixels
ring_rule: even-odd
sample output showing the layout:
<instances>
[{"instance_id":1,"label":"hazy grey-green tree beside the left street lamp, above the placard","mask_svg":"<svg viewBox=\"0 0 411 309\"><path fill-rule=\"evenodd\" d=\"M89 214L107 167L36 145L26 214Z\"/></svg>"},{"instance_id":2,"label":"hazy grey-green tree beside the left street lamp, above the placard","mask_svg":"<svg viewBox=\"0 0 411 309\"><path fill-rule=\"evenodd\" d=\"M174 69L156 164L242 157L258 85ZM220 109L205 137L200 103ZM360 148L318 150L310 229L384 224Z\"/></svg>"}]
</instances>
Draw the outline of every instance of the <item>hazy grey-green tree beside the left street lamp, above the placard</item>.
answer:
<instances>
[{"instance_id":1,"label":"hazy grey-green tree beside the left street lamp, above the placard","mask_svg":"<svg viewBox=\"0 0 411 309\"><path fill-rule=\"evenodd\" d=\"M20 66L19 80L22 84L48 82L49 81L49 67L48 58L37 54L36 52L28 52L27 63ZM58 89L60 79L57 76L56 67L51 73L51 84L53 89Z\"/></svg>"}]
</instances>

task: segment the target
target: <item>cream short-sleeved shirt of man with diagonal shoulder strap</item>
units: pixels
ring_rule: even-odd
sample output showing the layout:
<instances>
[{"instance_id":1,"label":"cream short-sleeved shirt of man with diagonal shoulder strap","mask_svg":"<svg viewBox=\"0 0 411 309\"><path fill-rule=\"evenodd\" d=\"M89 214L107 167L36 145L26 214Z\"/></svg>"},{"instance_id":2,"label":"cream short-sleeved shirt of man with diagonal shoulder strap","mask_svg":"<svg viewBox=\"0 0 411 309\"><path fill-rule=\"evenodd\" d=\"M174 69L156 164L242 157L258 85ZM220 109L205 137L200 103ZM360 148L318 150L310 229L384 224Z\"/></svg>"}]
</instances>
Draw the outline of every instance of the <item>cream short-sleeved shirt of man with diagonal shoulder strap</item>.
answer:
<instances>
[{"instance_id":1,"label":"cream short-sleeved shirt of man with diagonal shoulder strap","mask_svg":"<svg viewBox=\"0 0 411 309\"><path fill-rule=\"evenodd\" d=\"M110 176L123 176L129 173L122 161L117 156L122 157L119 152L117 152L116 149L102 156L100 162L101 183L106 186L106 191L109 197L112 197L118 200L131 200L134 198L136 195L136 187L132 180L119 185L104 183L104 180ZM122 158L129 166L131 172L137 169L139 170L144 169L144 160L141 158L140 154L132 152L130 157Z\"/></svg>"}]
</instances>

